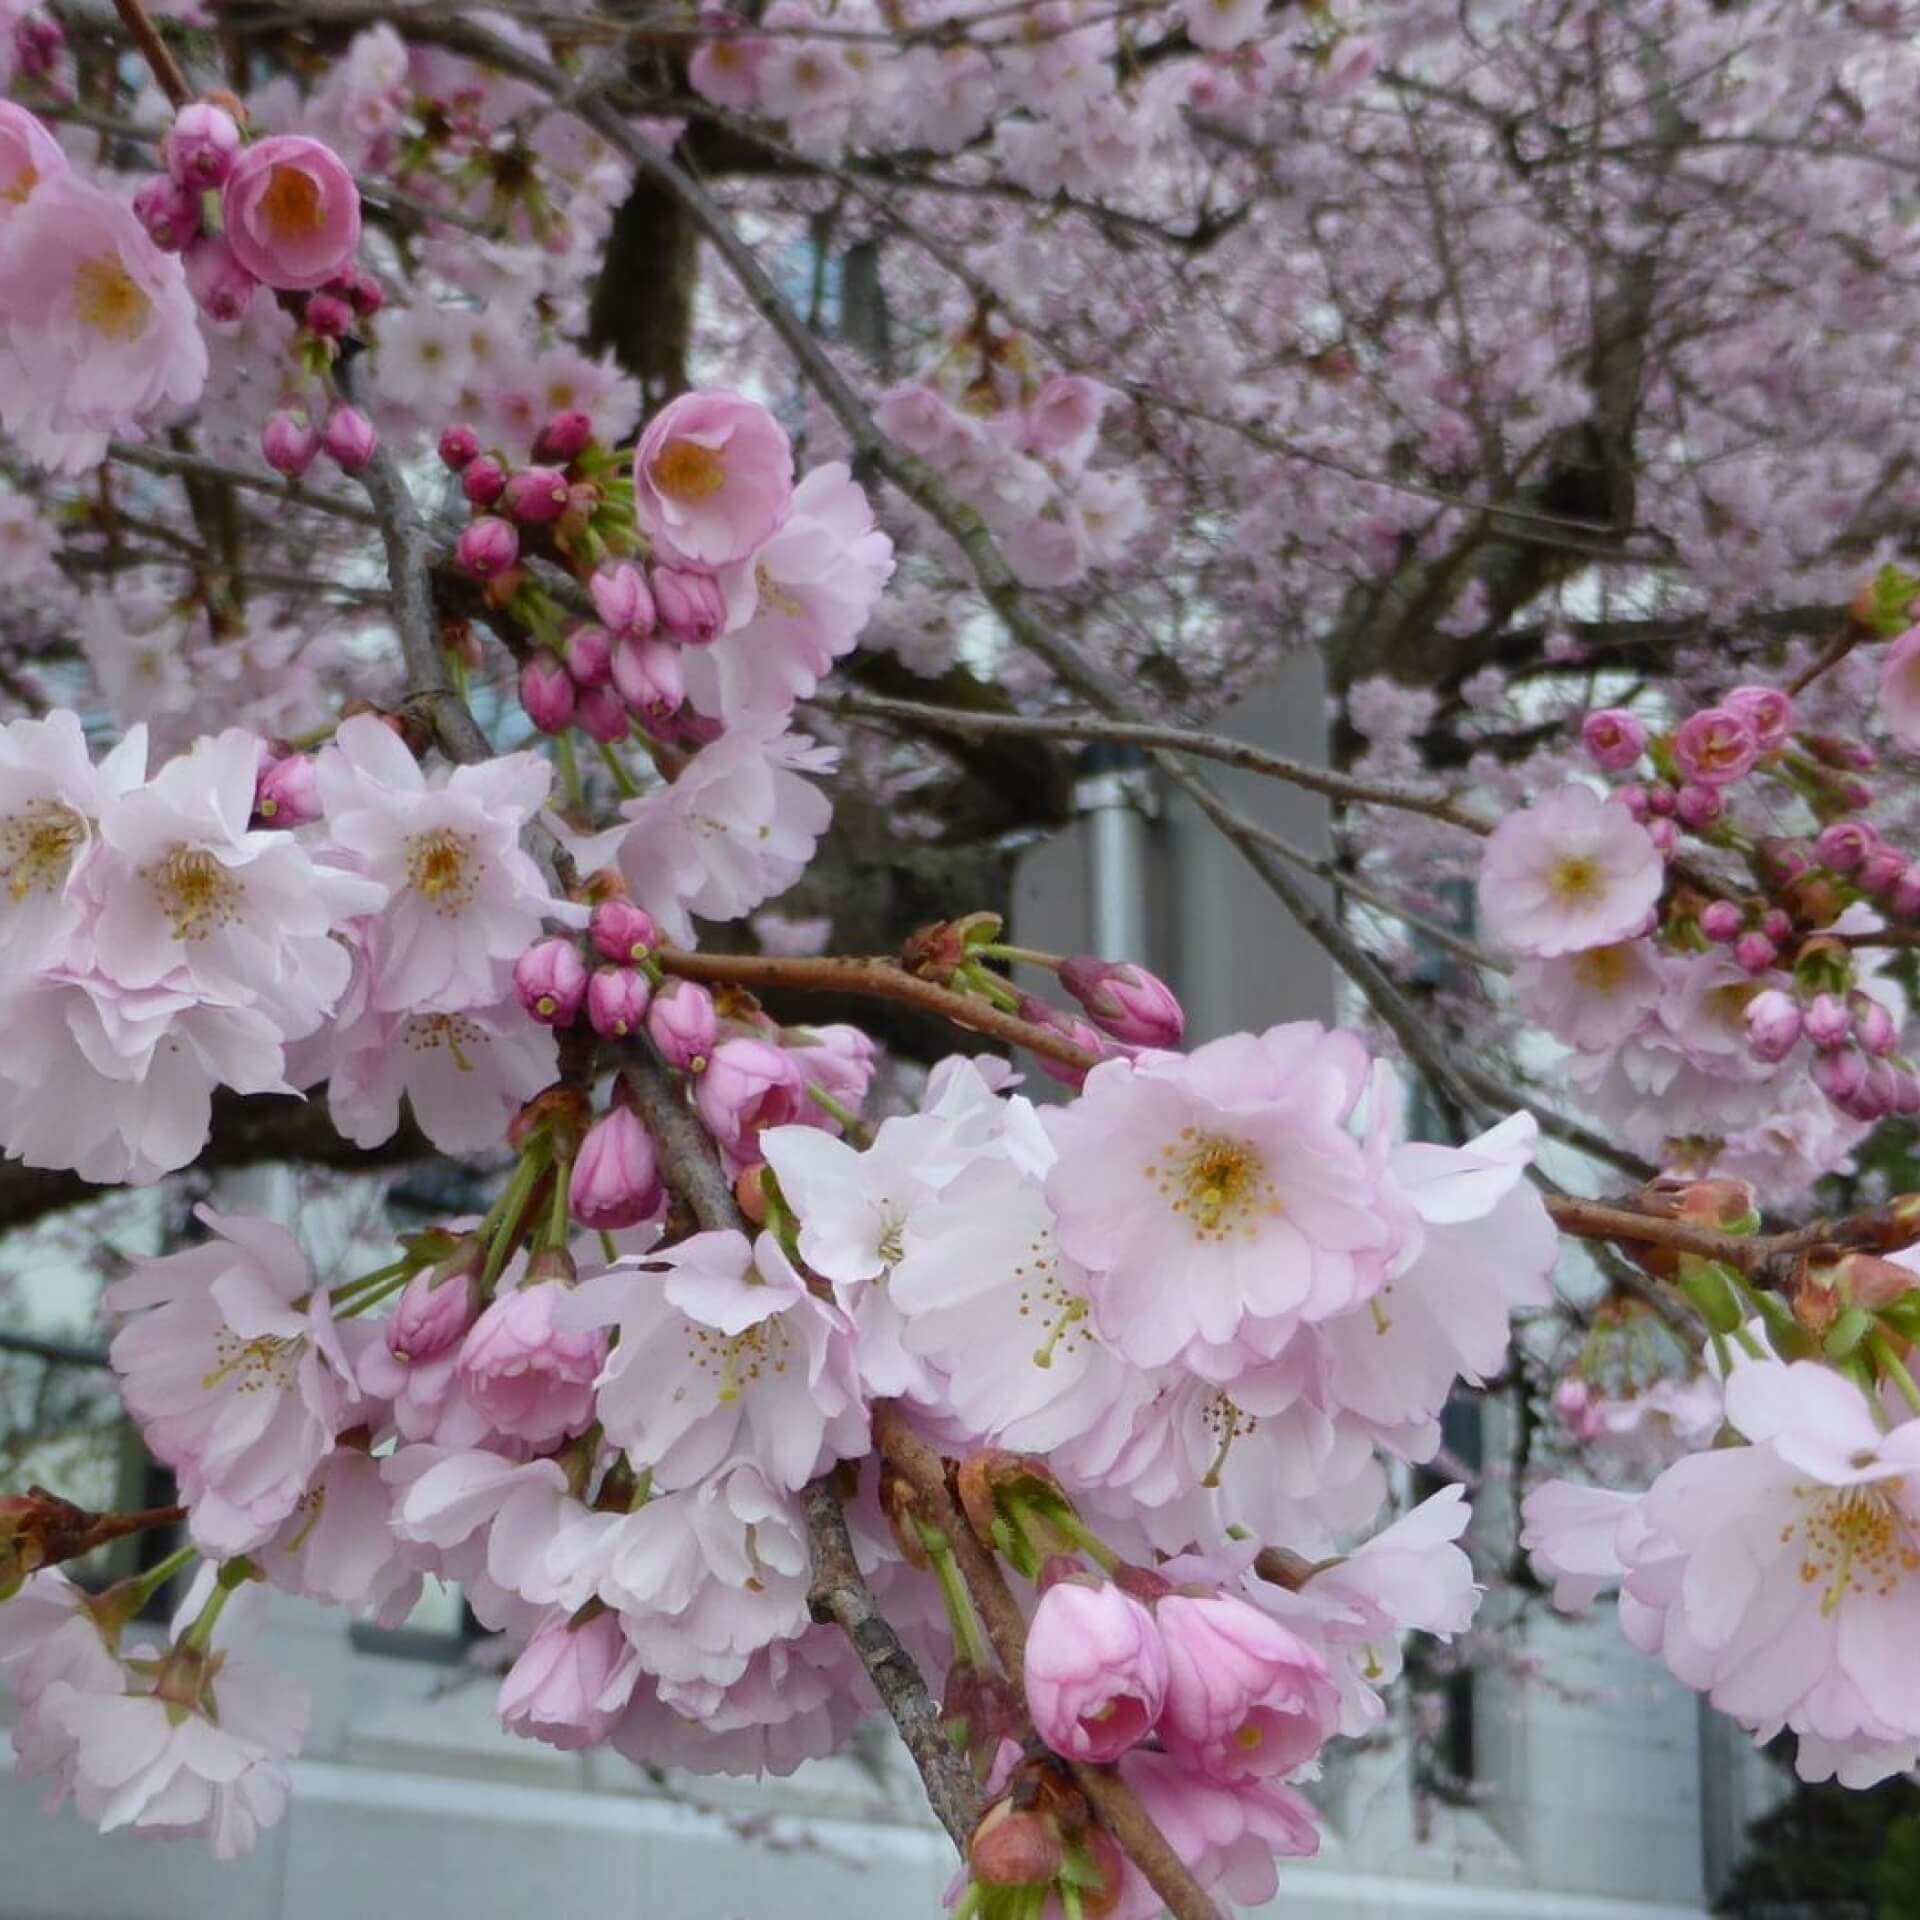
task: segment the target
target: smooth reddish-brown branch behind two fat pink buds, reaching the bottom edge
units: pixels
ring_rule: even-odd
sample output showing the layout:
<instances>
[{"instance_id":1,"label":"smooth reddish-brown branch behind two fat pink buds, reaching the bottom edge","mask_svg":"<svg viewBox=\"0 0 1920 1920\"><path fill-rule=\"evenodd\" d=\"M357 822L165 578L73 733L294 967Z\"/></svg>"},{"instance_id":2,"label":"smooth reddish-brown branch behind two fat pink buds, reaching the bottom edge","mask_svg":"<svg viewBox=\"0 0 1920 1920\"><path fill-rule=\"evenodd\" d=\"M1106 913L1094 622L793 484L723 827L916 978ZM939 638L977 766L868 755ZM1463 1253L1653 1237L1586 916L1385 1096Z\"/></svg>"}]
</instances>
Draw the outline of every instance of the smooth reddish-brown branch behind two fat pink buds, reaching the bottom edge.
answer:
<instances>
[{"instance_id":1,"label":"smooth reddish-brown branch behind two fat pink buds, reaching the bottom edge","mask_svg":"<svg viewBox=\"0 0 1920 1920\"><path fill-rule=\"evenodd\" d=\"M966 1580L973 1605L987 1626L993 1651L998 1655L1000 1667L1006 1668L1014 1699L1025 1713L1027 1622L1000 1572L1000 1563L979 1544L979 1536L960 1511L960 1503L947 1484L947 1461L914 1432L900 1407L891 1400L874 1407L874 1442L881 1459L914 1490L927 1523L947 1536L960 1567L960 1578ZM1206 1887L1194 1880L1187 1862L1167 1843L1167 1836L1154 1826L1133 1788L1121 1780L1116 1768L1085 1766L1077 1761L1069 1761L1066 1766L1073 1774L1073 1784L1100 1816L1100 1824L1146 1876L1146 1884L1160 1895L1175 1920L1221 1920Z\"/></svg>"}]
</instances>

